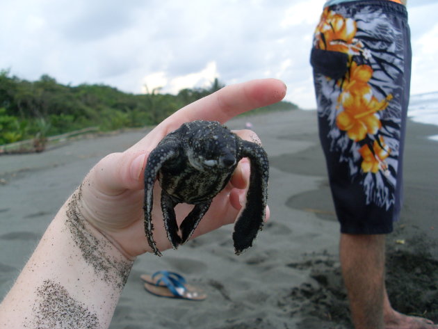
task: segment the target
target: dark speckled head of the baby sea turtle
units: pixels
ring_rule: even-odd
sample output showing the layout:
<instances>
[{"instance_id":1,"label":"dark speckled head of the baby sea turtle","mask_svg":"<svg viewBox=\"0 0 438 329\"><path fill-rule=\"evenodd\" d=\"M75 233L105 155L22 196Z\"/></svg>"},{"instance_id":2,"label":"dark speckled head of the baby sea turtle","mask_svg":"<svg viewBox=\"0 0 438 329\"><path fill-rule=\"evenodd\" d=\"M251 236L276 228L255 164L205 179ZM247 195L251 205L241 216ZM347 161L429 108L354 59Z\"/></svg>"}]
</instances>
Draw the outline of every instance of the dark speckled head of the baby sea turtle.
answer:
<instances>
[{"instance_id":1,"label":"dark speckled head of the baby sea turtle","mask_svg":"<svg viewBox=\"0 0 438 329\"><path fill-rule=\"evenodd\" d=\"M237 136L216 121L190 122L188 161L197 170L234 170Z\"/></svg>"}]
</instances>

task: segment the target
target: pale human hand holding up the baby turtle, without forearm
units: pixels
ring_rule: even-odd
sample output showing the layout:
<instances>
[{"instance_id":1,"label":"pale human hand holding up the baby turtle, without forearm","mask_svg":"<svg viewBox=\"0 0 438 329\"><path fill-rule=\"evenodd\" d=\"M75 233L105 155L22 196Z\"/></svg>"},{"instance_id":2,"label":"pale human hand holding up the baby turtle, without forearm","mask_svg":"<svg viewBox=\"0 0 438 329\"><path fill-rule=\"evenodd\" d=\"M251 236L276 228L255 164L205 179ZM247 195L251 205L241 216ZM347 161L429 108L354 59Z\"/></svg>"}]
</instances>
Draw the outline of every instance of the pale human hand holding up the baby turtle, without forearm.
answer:
<instances>
[{"instance_id":1,"label":"pale human hand holding up the baby turtle, without forearm","mask_svg":"<svg viewBox=\"0 0 438 329\"><path fill-rule=\"evenodd\" d=\"M81 186L81 214L127 257L151 252L143 225L143 172L149 152L166 134L184 122L218 120L224 123L245 111L279 102L285 94L286 86L282 81L262 79L227 86L185 106L161 122L136 145L125 152L109 154L90 170ZM251 131L237 131L236 134L254 141ZM213 199L192 238L234 223L245 198L249 175L248 160L243 159L228 186ZM160 194L161 188L155 184L154 200L159 200ZM177 205L175 212L178 224L192 207L188 204ZM267 211L267 218L268 214ZM159 202L154 202L152 218L157 247L159 250L170 248Z\"/></svg>"}]
</instances>

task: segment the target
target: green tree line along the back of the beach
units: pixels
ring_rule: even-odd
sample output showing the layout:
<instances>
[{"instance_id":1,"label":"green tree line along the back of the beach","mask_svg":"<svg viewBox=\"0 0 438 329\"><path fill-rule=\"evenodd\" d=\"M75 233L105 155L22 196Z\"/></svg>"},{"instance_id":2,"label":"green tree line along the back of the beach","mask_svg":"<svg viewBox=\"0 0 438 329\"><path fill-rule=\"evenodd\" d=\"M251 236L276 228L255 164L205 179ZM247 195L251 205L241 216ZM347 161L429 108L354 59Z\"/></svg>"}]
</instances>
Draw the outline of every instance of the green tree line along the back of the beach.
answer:
<instances>
[{"instance_id":1,"label":"green tree line along the back of the beach","mask_svg":"<svg viewBox=\"0 0 438 329\"><path fill-rule=\"evenodd\" d=\"M159 93L159 88L145 94L131 94L103 84L65 86L47 74L37 81L26 81L2 70L0 145L86 127L112 131L156 125L177 109L224 86L215 79L209 88L186 88L177 95ZM278 110L298 106L280 102L268 107Z\"/></svg>"}]
</instances>

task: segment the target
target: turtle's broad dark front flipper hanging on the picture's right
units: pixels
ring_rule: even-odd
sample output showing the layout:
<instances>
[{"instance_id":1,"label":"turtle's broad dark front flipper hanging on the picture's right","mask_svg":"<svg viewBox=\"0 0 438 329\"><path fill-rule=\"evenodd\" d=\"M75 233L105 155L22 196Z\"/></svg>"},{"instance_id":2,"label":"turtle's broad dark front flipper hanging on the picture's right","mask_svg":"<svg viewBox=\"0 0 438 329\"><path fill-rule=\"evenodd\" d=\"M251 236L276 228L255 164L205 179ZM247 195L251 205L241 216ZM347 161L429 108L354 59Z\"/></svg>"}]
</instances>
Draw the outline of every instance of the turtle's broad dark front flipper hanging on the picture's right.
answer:
<instances>
[{"instance_id":1,"label":"turtle's broad dark front flipper hanging on the picture's right","mask_svg":"<svg viewBox=\"0 0 438 329\"><path fill-rule=\"evenodd\" d=\"M252 246L252 241L263 227L268 200L269 162L263 147L242 141L242 157L250 159L251 175L245 209L234 225L233 241L236 255Z\"/></svg>"}]
</instances>

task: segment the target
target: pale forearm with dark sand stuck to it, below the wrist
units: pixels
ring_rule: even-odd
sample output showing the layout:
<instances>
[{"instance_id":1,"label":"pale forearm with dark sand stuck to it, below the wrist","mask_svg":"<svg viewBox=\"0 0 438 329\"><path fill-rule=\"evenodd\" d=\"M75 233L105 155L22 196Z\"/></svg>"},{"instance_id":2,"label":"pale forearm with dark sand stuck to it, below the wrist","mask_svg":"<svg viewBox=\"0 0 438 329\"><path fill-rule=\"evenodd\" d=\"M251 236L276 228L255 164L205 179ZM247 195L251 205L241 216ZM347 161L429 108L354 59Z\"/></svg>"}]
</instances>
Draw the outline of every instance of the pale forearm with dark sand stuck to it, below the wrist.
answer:
<instances>
[{"instance_id":1,"label":"pale forearm with dark sand stuck to it, below the wrist","mask_svg":"<svg viewBox=\"0 0 438 329\"><path fill-rule=\"evenodd\" d=\"M0 305L0 328L108 328L131 270L81 216L80 190L63 205Z\"/></svg>"}]
</instances>

